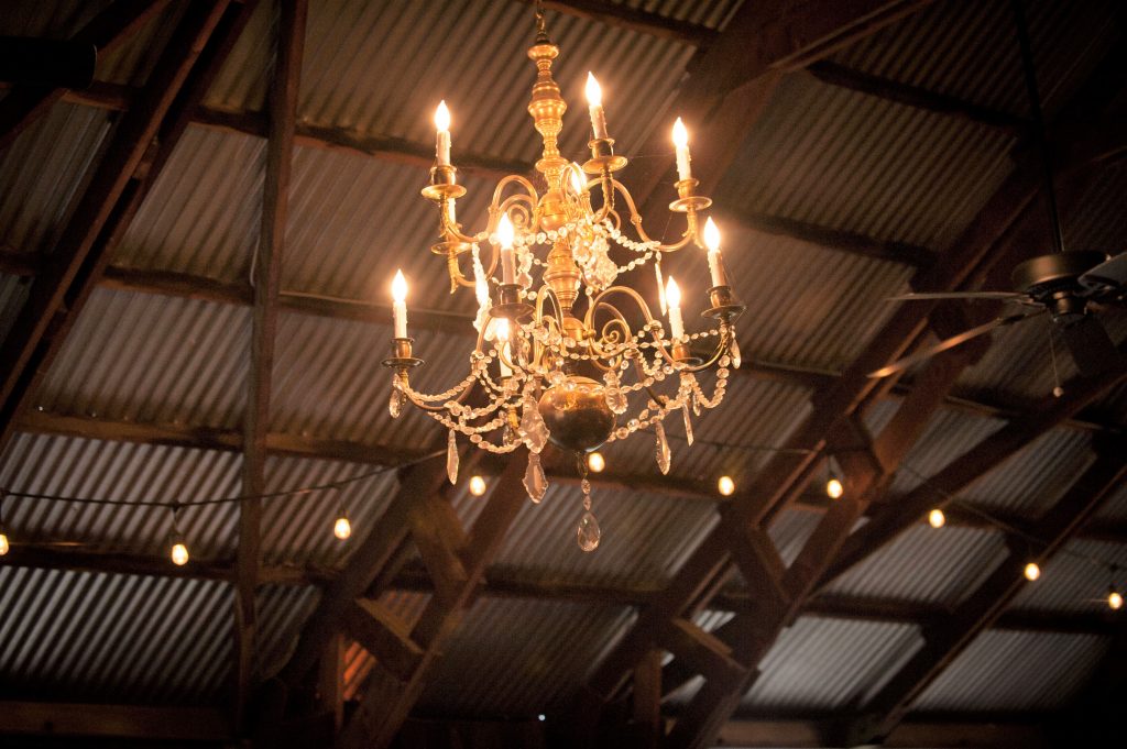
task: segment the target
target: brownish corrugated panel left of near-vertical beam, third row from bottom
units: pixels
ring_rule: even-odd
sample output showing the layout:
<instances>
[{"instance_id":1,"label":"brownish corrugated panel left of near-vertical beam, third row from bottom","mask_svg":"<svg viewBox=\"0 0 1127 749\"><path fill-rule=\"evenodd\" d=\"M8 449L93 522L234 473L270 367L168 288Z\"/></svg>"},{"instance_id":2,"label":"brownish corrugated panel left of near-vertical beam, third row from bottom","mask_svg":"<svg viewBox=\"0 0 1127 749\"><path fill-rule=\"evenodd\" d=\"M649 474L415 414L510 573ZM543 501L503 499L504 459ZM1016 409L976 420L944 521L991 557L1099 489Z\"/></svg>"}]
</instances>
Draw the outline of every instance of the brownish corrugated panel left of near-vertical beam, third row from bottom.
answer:
<instances>
[{"instance_id":1,"label":"brownish corrugated panel left of near-vertical beam, third row from bottom","mask_svg":"<svg viewBox=\"0 0 1127 749\"><path fill-rule=\"evenodd\" d=\"M250 310L96 289L33 403L108 419L236 428Z\"/></svg>"}]
</instances>

